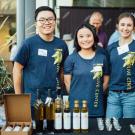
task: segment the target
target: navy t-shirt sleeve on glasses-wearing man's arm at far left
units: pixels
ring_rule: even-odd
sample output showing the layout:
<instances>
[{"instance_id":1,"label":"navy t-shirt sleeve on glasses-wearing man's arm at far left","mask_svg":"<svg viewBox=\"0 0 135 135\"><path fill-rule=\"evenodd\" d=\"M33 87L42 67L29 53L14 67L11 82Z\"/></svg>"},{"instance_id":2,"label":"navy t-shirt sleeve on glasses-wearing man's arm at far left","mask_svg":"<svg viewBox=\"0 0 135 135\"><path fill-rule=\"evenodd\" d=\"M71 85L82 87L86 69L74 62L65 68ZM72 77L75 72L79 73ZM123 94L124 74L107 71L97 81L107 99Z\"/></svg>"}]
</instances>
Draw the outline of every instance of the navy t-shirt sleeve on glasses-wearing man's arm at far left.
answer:
<instances>
[{"instance_id":1,"label":"navy t-shirt sleeve on glasses-wearing man's arm at far left","mask_svg":"<svg viewBox=\"0 0 135 135\"><path fill-rule=\"evenodd\" d=\"M26 63L28 62L28 56L29 56L29 47L28 47L28 44L25 41L23 41L21 47L18 49L18 52L14 61L25 66Z\"/></svg>"}]
</instances>

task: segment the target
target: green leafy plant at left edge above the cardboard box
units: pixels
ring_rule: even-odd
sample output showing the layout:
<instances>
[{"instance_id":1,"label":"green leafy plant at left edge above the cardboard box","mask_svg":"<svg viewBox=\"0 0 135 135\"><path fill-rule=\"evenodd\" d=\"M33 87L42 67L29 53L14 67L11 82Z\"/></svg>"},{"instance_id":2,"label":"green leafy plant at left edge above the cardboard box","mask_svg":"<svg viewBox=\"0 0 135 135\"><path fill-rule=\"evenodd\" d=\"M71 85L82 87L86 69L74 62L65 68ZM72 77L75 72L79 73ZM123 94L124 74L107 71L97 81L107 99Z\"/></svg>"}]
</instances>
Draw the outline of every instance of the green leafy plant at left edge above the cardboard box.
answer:
<instances>
[{"instance_id":1,"label":"green leafy plant at left edge above the cardboard box","mask_svg":"<svg viewBox=\"0 0 135 135\"><path fill-rule=\"evenodd\" d=\"M0 57L0 104L3 103L3 94L13 92L12 75L8 72L4 59Z\"/></svg>"}]
</instances>

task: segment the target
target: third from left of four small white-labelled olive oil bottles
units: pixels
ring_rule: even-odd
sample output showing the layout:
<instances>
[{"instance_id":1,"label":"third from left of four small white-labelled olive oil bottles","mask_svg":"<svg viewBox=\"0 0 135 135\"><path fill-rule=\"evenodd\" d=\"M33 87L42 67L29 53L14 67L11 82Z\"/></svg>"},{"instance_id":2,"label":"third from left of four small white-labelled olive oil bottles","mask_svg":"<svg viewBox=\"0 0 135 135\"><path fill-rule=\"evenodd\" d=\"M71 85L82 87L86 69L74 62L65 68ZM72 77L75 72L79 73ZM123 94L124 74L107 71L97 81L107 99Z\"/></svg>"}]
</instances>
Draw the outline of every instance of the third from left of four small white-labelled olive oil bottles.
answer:
<instances>
[{"instance_id":1,"label":"third from left of four small white-labelled olive oil bottles","mask_svg":"<svg viewBox=\"0 0 135 135\"><path fill-rule=\"evenodd\" d=\"M74 101L74 109L73 109L73 132L80 133L80 108L79 101Z\"/></svg>"}]
</instances>

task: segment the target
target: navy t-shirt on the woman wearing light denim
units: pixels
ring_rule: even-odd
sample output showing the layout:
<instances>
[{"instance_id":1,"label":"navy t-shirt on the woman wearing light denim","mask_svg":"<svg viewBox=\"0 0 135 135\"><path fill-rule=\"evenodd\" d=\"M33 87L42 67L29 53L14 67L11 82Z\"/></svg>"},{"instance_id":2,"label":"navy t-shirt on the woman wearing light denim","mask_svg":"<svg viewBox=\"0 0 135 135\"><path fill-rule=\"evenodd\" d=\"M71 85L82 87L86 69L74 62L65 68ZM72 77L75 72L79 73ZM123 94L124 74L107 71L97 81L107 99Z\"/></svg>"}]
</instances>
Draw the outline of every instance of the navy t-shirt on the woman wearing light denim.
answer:
<instances>
[{"instance_id":1,"label":"navy t-shirt on the woman wearing light denim","mask_svg":"<svg viewBox=\"0 0 135 135\"><path fill-rule=\"evenodd\" d=\"M129 52L135 52L135 41L126 46L127 51L124 53L118 53L118 42L108 46L111 67L109 90L135 89L135 64L124 66L125 58L130 56Z\"/></svg>"}]
</instances>

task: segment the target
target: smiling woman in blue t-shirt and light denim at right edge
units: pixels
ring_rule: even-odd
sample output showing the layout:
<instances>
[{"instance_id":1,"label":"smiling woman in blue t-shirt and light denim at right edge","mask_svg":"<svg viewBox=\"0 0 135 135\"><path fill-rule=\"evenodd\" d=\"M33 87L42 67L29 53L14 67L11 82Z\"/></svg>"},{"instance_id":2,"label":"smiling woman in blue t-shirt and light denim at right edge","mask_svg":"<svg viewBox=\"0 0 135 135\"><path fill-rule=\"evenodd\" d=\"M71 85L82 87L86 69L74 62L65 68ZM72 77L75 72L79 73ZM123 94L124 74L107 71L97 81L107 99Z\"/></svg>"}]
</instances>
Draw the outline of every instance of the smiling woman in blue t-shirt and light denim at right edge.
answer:
<instances>
[{"instance_id":1,"label":"smiling woman in blue t-shirt and light denim at right edge","mask_svg":"<svg viewBox=\"0 0 135 135\"><path fill-rule=\"evenodd\" d=\"M130 13L118 17L119 40L108 46L110 82L107 118L135 118L135 18Z\"/></svg>"}]
</instances>

